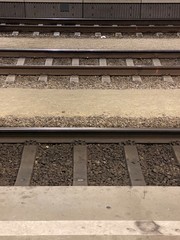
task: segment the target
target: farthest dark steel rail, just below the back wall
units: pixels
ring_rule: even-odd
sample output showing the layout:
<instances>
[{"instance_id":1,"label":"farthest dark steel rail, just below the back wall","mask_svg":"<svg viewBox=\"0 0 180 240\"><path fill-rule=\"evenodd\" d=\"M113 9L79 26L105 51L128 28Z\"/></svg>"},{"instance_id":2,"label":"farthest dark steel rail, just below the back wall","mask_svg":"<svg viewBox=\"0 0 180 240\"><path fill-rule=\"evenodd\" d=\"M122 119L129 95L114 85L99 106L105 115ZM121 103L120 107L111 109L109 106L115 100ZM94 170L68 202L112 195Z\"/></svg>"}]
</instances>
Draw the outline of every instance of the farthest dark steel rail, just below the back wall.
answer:
<instances>
[{"instance_id":1,"label":"farthest dark steel rail, just below the back wall","mask_svg":"<svg viewBox=\"0 0 180 240\"><path fill-rule=\"evenodd\" d=\"M98 18L0 18L6 24L63 24L63 25L180 25L180 19L98 19Z\"/></svg>"}]
</instances>

